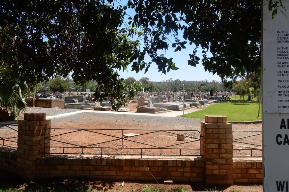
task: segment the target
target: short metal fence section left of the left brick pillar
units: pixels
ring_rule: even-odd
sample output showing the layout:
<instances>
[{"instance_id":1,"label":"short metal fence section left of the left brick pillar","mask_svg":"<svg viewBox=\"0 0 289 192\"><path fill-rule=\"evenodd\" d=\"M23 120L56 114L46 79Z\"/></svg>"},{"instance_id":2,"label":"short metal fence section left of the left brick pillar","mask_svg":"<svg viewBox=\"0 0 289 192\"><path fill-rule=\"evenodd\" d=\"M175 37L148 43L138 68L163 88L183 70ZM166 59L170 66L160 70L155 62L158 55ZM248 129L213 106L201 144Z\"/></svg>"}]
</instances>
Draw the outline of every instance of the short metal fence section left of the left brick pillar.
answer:
<instances>
[{"instance_id":1,"label":"short metal fence section left of the left brick pillar","mask_svg":"<svg viewBox=\"0 0 289 192\"><path fill-rule=\"evenodd\" d=\"M10 124L0 123L0 130L1 129L4 130L7 128L18 133L18 123L15 123L15 122L10 123ZM0 141L1 141L0 145L17 149L17 138L18 138L17 134L16 136L9 136L9 137L4 136L4 134L0 134ZM13 145L16 145L16 147L13 147Z\"/></svg>"}]
</instances>

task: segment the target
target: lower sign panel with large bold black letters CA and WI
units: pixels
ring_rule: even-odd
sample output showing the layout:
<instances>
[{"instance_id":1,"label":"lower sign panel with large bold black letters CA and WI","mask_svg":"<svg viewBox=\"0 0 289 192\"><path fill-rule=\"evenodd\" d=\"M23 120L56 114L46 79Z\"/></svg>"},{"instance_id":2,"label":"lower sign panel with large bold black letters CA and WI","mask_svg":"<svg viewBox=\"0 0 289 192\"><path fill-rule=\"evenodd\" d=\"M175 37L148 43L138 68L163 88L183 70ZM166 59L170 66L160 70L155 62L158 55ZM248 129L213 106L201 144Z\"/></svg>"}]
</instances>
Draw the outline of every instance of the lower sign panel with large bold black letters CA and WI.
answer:
<instances>
[{"instance_id":1,"label":"lower sign panel with large bold black letters CA and WI","mask_svg":"<svg viewBox=\"0 0 289 192\"><path fill-rule=\"evenodd\" d=\"M289 191L289 114L263 113L264 191Z\"/></svg>"}]
</instances>

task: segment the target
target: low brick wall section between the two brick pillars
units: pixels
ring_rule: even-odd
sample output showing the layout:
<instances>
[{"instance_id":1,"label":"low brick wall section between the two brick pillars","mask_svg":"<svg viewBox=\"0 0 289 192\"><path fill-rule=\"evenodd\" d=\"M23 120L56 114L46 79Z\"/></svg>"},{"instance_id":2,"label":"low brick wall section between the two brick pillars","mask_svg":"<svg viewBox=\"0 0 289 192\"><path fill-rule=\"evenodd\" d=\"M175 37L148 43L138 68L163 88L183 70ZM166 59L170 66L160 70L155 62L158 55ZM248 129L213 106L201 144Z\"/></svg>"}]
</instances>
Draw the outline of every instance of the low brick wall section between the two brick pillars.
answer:
<instances>
[{"instance_id":1,"label":"low brick wall section between the two brick pillars","mask_svg":"<svg viewBox=\"0 0 289 192\"><path fill-rule=\"evenodd\" d=\"M161 180L200 182L204 177L201 157L123 156L114 158L48 156L37 159L37 178L84 176L112 180ZM153 176L154 177L153 177Z\"/></svg>"}]
</instances>

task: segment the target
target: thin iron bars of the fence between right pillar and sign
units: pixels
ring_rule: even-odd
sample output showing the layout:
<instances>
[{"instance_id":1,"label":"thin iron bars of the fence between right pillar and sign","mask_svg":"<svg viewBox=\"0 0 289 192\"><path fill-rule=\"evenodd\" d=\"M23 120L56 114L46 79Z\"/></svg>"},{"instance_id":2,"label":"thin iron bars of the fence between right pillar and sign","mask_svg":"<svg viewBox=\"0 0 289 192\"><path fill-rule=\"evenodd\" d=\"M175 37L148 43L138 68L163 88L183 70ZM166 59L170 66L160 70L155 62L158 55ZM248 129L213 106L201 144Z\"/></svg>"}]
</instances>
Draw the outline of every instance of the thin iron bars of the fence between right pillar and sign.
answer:
<instances>
[{"instance_id":1,"label":"thin iron bars of the fence between right pillar and sign","mask_svg":"<svg viewBox=\"0 0 289 192\"><path fill-rule=\"evenodd\" d=\"M253 151L262 151L262 149L254 149L253 146L258 146L258 147L262 147L262 145L258 145L258 144L253 144L253 143L247 143L247 142L242 142L242 141L238 141L238 140L241 140L241 139L244 139L244 138L250 138L250 137L253 137L253 136L258 136L258 135L262 135L262 131L248 131L248 130L235 130L233 131L233 134L234 132L260 132L258 134L253 134L253 135L249 135L249 136L243 136L243 137L239 137L239 138L235 138L233 139L233 142L236 142L236 143L242 143L242 144L247 144L248 148L250 149L233 149L233 150L239 150L239 151L250 151L250 155L234 155L234 157L262 157L262 153L259 154L259 155L254 155L253 154ZM252 147L250 147L252 146Z\"/></svg>"}]
</instances>

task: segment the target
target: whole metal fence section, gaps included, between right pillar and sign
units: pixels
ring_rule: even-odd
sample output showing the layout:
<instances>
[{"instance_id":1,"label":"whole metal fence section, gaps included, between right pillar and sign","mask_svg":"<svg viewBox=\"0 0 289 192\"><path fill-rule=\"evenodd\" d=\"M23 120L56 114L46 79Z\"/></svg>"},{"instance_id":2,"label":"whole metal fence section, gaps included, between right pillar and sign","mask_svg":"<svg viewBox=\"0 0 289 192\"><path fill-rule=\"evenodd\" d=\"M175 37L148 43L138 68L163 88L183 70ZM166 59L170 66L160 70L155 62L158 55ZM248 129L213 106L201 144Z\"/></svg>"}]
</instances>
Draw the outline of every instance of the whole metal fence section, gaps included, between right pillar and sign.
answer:
<instances>
[{"instance_id":1,"label":"whole metal fence section, gaps included, between right pillar and sign","mask_svg":"<svg viewBox=\"0 0 289 192\"><path fill-rule=\"evenodd\" d=\"M241 136L238 138L234 138L234 133L237 132L247 132L250 135L247 136ZM262 143L262 137L260 140L257 140L256 142L246 142L246 138L252 138L255 136L262 136L262 131L247 131L247 130L236 130L233 131L233 156L234 157L262 157L262 145L260 145L260 142ZM256 139L255 139L256 140ZM238 145L236 143L241 143L245 145ZM234 149L235 146L241 146L242 148Z\"/></svg>"}]
</instances>

